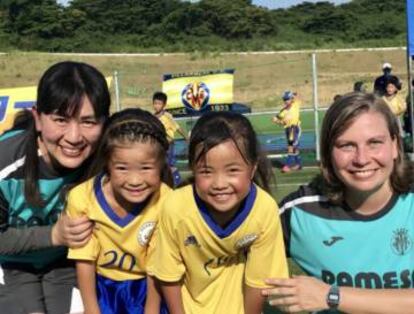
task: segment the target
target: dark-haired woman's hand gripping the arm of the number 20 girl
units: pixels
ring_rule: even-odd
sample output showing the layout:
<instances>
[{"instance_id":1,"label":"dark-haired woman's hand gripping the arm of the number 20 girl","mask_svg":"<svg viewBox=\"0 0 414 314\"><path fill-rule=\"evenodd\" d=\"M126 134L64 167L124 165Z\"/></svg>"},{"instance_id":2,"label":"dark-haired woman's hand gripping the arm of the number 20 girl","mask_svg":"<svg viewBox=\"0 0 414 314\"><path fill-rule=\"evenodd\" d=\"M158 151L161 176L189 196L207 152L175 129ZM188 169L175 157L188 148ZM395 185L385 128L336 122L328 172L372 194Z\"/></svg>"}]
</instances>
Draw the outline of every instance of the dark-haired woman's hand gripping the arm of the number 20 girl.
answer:
<instances>
[{"instance_id":1,"label":"dark-haired woman's hand gripping the arm of the number 20 girl","mask_svg":"<svg viewBox=\"0 0 414 314\"><path fill-rule=\"evenodd\" d=\"M82 247L92 236L93 225L86 216L70 218L63 212L52 227L52 244L70 248Z\"/></svg>"}]
</instances>

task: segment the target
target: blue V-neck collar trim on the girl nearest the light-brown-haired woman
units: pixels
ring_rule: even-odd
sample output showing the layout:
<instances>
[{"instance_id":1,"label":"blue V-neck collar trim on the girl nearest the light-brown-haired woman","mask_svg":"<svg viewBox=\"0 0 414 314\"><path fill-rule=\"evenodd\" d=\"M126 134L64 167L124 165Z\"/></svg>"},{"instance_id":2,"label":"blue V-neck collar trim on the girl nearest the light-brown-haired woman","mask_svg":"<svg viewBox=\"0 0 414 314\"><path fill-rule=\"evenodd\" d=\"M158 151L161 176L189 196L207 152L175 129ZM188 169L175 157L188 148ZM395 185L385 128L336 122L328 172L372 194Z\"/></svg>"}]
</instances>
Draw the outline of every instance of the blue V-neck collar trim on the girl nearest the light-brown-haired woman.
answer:
<instances>
[{"instance_id":1,"label":"blue V-neck collar trim on the girl nearest the light-brown-haired woman","mask_svg":"<svg viewBox=\"0 0 414 314\"><path fill-rule=\"evenodd\" d=\"M193 193L197 207L200 210L204 221L220 239L223 239L231 235L246 220L251 209L253 208L254 201L256 200L257 188L254 184L250 186L249 193L242 201L236 215L233 217L232 221L224 228L214 221L213 217L210 215L207 209L206 203L197 195L195 187L193 187Z\"/></svg>"}]
</instances>

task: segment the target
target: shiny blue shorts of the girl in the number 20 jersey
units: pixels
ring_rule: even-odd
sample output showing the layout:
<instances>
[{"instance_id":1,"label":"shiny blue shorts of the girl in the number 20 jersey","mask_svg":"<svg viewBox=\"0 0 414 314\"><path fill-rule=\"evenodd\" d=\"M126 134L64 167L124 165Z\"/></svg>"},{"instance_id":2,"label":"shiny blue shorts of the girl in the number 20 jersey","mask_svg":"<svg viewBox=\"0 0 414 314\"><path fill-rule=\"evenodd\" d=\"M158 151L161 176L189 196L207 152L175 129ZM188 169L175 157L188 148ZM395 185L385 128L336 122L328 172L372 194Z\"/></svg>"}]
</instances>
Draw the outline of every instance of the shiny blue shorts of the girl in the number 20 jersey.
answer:
<instances>
[{"instance_id":1,"label":"shiny blue shorts of the girl in the number 20 jersey","mask_svg":"<svg viewBox=\"0 0 414 314\"><path fill-rule=\"evenodd\" d=\"M96 293L102 314L143 314L147 279L115 281L97 274ZM168 314L165 303L161 303L160 313Z\"/></svg>"}]
</instances>

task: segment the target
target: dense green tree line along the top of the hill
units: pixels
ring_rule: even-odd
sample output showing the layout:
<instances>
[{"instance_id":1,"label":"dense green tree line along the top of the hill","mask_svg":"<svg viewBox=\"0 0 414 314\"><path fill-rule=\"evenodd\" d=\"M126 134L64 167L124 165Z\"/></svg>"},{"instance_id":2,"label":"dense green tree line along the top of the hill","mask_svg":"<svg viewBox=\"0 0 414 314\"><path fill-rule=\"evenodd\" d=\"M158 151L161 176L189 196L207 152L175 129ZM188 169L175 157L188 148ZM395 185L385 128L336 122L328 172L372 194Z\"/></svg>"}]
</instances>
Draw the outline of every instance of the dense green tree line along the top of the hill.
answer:
<instances>
[{"instance_id":1,"label":"dense green tree line along the top of the hill","mask_svg":"<svg viewBox=\"0 0 414 314\"><path fill-rule=\"evenodd\" d=\"M405 0L0 0L0 49L73 52L249 51L401 46Z\"/></svg>"}]
</instances>

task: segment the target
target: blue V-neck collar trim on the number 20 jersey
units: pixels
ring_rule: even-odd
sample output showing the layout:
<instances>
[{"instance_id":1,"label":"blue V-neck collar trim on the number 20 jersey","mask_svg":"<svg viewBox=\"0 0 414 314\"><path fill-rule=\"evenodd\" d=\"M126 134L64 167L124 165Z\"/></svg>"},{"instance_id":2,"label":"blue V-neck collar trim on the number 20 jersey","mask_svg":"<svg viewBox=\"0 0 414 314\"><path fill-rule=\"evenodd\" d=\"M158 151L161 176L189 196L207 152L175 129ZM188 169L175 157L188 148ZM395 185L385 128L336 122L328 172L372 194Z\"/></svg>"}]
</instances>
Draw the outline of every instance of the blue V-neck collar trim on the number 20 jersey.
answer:
<instances>
[{"instance_id":1,"label":"blue V-neck collar trim on the number 20 jersey","mask_svg":"<svg viewBox=\"0 0 414 314\"><path fill-rule=\"evenodd\" d=\"M102 190L102 179L104 177L104 174L100 174L96 176L93 190L95 192L96 199L98 201L99 206L102 208L102 210L105 212L105 214L118 226L125 227L128 225L136 216L139 215L139 213L147 206L148 200L151 199L151 197L148 197L147 200L145 200L142 203L136 204L134 209L129 212L125 217L119 217L111 205L109 205L108 201L105 198L105 195Z\"/></svg>"}]
</instances>

